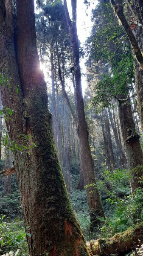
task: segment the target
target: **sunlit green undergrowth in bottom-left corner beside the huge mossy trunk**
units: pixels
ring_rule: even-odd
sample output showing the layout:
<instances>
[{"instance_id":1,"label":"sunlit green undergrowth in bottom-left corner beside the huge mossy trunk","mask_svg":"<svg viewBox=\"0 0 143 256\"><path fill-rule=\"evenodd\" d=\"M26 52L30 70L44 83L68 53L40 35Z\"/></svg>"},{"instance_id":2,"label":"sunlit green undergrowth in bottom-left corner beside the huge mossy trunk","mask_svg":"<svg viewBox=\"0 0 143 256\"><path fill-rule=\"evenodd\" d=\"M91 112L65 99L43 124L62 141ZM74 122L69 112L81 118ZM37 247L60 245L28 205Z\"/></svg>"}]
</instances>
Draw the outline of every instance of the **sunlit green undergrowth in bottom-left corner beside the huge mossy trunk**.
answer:
<instances>
[{"instance_id":1,"label":"sunlit green undergrowth in bottom-left corner beside the huge mossy trunk","mask_svg":"<svg viewBox=\"0 0 143 256\"><path fill-rule=\"evenodd\" d=\"M28 246L23 221L14 220L8 222L5 215L0 215L0 245L1 253L16 251L18 256L28 255ZM15 254L14 254L15 255Z\"/></svg>"}]
</instances>

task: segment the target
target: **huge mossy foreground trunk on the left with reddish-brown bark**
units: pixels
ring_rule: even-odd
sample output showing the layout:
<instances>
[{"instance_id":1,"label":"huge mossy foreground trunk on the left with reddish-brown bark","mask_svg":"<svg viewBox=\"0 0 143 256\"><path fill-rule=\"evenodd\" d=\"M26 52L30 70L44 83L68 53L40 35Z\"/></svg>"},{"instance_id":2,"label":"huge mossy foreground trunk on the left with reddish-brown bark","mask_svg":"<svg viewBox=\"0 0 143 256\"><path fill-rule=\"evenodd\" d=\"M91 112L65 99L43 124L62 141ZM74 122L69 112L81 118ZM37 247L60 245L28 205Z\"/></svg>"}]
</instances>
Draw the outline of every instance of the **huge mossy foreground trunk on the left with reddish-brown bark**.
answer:
<instances>
[{"instance_id":1,"label":"huge mossy foreground trunk on the left with reddish-brown bark","mask_svg":"<svg viewBox=\"0 0 143 256\"><path fill-rule=\"evenodd\" d=\"M5 4L0 0L0 72L3 79L9 78L10 86L4 83L1 87L2 102L13 110L13 120L7 116L11 140L28 148L21 154L16 147L14 161L25 229L31 233L27 236L29 254L87 256L53 143L46 84L36 49L34 1L17 0L17 62L11 1Z\"/></svg>"}]
</instances>

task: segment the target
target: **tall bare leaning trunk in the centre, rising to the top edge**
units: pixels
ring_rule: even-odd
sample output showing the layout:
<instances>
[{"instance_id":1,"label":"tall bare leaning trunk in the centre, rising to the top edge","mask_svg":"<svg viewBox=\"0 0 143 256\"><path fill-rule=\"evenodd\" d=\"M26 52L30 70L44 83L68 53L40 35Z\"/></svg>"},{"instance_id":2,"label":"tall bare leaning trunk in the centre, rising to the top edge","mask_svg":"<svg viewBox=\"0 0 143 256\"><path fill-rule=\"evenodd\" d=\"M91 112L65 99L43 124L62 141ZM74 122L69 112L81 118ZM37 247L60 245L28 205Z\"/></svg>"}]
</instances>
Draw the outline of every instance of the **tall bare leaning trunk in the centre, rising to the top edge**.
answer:
<instances>
[{"instance_id":1,"label":"tall bare leaning trunk in the centre, rising to the top edge","mask_svg":"<svg viewBox=\"0 0 143 256\"><path fill-rule=\"evenodd\" d=\"M67 25L70 29L70 36L73 49L73 62L74 62L74 74L76 82L76 101L77 101L77 112L79 119L79 141L81 149L81 166L84 175L85 185L94 184L93 186L87 187L87 199L90 209L90 223L91 230L94 227L98 226L98 223L101 221L98 217L104 217L104 211L101 204L100 195L97 189L93 159L90 151L90 144L88 141L88 131L87 123L84 113L84 101L82 96L82 87L81 87L81 70L79 64L79 41L77 36L76 28L76 0L71 0L72 4L72 13L73 13L73 22L71 22L67 2L64 0L65 15L67 18Z\"/></svg>"}]
</instances>

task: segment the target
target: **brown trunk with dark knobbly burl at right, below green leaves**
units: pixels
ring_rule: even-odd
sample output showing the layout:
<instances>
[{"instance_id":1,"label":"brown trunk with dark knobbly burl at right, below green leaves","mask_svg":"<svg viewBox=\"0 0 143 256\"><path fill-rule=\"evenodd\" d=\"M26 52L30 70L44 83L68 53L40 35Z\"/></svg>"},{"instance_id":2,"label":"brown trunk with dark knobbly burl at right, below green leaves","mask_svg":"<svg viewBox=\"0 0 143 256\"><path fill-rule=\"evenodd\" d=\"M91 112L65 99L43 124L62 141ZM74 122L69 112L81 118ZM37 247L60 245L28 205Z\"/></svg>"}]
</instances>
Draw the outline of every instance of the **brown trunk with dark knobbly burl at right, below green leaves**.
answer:
<instances>
[{"instance_id":1,"label":"brown trunk with dark knobbly burl at right, below green leaves","mask_svg":"<svg viewBox=\"0 0 143 256\"><path fill-rule=\"evenodd\" d=\"M122 96L122 98L124 98L124 96ZM135 192L137 187L142 186L142 184L139 183L139 177L143 176L143 153L140 147L140 135L138 135L135 130L129 100L119 100L119 118L123 143L125 145L127 165L131 173L131 190Z\"/></svg>"}]
</instances>

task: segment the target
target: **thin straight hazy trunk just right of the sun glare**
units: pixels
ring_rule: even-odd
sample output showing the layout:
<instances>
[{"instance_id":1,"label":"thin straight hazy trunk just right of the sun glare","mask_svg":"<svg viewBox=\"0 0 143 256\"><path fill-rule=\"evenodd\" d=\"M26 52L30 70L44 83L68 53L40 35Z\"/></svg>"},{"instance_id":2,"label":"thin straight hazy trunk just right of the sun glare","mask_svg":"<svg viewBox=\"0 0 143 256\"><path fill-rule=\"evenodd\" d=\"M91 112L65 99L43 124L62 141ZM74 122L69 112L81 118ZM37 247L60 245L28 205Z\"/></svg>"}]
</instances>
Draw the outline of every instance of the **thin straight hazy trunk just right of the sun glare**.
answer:
<instances>
[{"instance_id":1,"label":"thin straight hazy trunk just right of the sun glare","mask_svg":"<svg viewBox=\"0 0 143 256\"><path fill-rule=\"evenodd\" d=\"M52 51L52 49L51 49ZM53 52L50 56L51 64L51 80L52 80L52 107L53 107L53 137L56 148L58 150L58 138L57 138L57 122L56 122L56 96L55 96L55 82L54 82L54 64L53 64Z\"/></svg>"}]
</instances>

